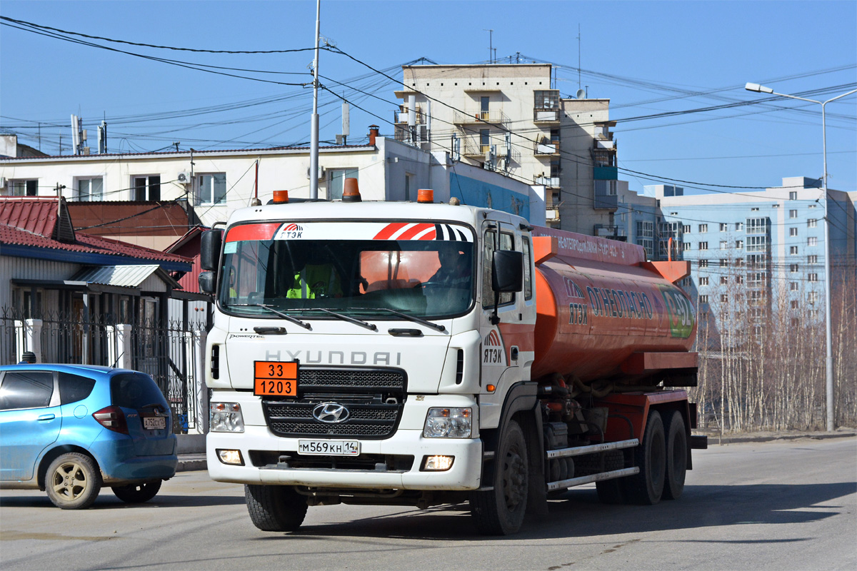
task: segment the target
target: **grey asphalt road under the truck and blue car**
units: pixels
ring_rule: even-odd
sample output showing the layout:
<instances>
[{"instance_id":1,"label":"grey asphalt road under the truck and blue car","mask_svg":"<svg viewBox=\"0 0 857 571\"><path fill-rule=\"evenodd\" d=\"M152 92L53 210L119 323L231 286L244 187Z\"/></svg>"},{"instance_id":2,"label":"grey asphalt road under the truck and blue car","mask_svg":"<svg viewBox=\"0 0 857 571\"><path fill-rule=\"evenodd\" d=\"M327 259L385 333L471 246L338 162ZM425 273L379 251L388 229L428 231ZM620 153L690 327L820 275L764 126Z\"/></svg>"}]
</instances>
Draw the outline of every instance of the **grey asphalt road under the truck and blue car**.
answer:
<instances>
[{"instance_id":1,"label":"grey asphalt road under the truck and blue car","mask_svg":"<svg viewBox=\"0 0 857 571\"><path fill-rule=\"evenodd\" d=\"M256 530L243 487L205 472L136 507L110 490L84 511L0 491L0 568L854 571L857 438L696 450L678 501L607 506L586 486L508 538L475 535L461 508L310 508L289 534Z\"/></svg>"}]
</instances>

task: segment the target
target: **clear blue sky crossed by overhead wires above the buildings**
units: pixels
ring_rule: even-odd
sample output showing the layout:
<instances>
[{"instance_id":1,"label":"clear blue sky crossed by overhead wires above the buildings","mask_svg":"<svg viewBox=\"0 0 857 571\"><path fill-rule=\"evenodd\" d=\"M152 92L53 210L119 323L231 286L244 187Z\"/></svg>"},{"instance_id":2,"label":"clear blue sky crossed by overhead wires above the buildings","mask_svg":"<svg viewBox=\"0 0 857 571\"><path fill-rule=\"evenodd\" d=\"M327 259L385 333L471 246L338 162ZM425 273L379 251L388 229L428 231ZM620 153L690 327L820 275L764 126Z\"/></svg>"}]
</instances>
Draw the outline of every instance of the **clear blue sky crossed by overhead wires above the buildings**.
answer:
<instances>
[{"instance_id":1,"label":"clear blue sky crossed by overhead wires above the buildings","mask_svg":"<svg viewBox=\"0 0 857 571\"><path fill-rule=\"evenodd\" d=\"M0 15L129 42L227 51L310 48L315 1L33 2L3 0ZM4 23L9 23L4 21ZM776 92L828 99L857 88L854 2L363 2L322 0L321 35L375 69L401 77L420 57L486 62L520 54L560 64L557 88L611 100L620 178L633 190L672 179L695 188L770 187L822 171L820 105L794 100L713 109ZM63 38L83 39L66 33ZM87 40L284 83L309 82L311 51L207 54ZM393 134L393 81L341 54L321 53L322 80L351 108L350 142L369 124ZM285 72L285 73L284 73ZM339 86L337 82L348 86ZM371 97L356 92L351 86ZM0 26L0 129L56 154L69 152L69 116L83 116L91 146L107 117L109 151L306 144L312 90L205 73ZM322 92L321 140L340 128L338 98ZM228 109L222 110L222 107ZM189 110L194 110L190 112ZM693 111L695 112L688 112ZM827 106L829 186L857 190L857 98ZM647 117L661 113L674 116ZM374 115L373 115L374 114ZM625 121L623 121L625 120ZM631 172L637 171L637 172ZM738 188L734 190L740 190Z\"/></svg>"}]
</instances>

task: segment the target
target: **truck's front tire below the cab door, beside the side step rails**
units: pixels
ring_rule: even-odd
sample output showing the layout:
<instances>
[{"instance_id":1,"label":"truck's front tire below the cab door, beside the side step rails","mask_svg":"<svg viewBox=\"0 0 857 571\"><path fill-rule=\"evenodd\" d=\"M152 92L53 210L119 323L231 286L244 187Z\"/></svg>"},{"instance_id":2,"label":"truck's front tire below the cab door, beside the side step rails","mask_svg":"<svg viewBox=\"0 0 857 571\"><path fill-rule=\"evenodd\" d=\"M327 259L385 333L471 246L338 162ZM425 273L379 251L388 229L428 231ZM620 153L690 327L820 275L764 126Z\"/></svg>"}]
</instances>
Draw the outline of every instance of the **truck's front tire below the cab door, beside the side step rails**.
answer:
<instances>
[{"instance_id":1,"label":"truck's front tire below the cab door, beside the side step rails","mask_svg":"<svg viewBox=\"0 0 857 571\"><path fill-rule=\"evenodd\" d=\"M524 431L514 420L506 425L494 463L494 489L470 494L470 514L483 535L516 533L524 523L530 474Z\"/></svg>"}]
</instances>

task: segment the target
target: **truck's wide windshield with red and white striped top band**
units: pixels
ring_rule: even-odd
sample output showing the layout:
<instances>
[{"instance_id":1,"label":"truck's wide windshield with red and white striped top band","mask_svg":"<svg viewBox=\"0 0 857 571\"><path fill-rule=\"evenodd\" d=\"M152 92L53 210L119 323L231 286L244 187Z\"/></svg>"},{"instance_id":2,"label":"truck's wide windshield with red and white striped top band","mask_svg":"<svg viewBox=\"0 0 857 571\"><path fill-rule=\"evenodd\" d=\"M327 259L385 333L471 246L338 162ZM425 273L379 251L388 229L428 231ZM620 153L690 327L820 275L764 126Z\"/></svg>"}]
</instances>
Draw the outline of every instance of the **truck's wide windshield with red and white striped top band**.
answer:
<instances>
[{"instance_id":1,"label":"truck's wide windshield with red and white striped top band","mask_svg":"<svg viewBox=\"0 0 857 571\"><path fill-rule=\"evenodd\" d=\"M475 291L473 232L460 224L242 224L224 254L219 302L233 313L443 318Z\"/></svg>"}]
</instances>

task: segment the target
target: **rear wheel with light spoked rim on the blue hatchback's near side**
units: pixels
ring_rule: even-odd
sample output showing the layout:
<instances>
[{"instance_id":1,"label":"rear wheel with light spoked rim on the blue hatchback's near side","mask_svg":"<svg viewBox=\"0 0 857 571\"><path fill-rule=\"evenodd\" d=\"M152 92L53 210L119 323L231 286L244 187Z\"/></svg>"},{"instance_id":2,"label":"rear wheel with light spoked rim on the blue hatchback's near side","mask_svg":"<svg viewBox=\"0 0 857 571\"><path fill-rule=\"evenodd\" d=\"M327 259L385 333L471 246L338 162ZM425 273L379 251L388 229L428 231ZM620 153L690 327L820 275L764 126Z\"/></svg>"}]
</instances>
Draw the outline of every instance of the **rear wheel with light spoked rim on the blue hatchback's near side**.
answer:
<instances>
[{"instance_id":1,"label":"rear wheel with light spoked rim on the blue hatchback's near side","mask_svg":"<svg viewBox=\"0 0 857 571\"><path fill-rule=\"evenodd\" d=\"M45 475L45 491L61 509L87 509L101 491L101 473L85 454L69 452L57 456Z\"/></svg>"}]
</instances>

